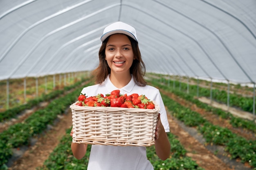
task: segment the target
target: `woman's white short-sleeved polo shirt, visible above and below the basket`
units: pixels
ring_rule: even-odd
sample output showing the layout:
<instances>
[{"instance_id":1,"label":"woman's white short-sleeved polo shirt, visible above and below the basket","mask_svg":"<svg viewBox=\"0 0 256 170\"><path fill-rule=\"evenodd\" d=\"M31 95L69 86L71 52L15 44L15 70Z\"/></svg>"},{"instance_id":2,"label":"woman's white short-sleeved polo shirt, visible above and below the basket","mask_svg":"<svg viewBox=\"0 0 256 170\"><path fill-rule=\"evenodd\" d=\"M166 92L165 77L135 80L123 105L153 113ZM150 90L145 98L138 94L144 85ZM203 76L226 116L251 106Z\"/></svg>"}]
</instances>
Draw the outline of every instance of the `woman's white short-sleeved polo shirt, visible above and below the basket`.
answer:
<instances>
[{"instance_id":1,"label":"woman's white short-sleeved polo shirt, visible above and below the basket","mask_svg":"<svg viewBox=\"0 0 256 170\"><path fill-rule=\"evenodd\" d=\"M110 94L118 89L110 81L109 75L106 80L97 85L83 88L82 92L86 96L97 94ZM157 88L146 85L140 87L135 84L133 78L125 87L119 89L120 94L144 94L148 99L155 100L160 107L160 118L166 132L169 132L164 102ZM153 170L153 166L146 157L145 146L105 146L92 145L88 170Z\"/></svg>"}]
</instances>

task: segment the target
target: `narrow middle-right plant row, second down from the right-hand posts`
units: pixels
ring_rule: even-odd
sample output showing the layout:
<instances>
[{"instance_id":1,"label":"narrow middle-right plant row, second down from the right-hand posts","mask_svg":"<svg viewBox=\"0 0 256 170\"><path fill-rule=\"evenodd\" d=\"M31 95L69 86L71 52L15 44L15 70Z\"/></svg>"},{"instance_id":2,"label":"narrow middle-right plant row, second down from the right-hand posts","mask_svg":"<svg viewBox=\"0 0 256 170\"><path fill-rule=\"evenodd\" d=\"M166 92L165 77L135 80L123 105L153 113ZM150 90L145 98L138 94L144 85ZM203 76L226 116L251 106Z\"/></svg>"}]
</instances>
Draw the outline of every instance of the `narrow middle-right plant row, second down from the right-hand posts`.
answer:
<instances>
[{"instance_id":1,"label":"narrow middle-right plant row, second down from the right-hand posts","mask_svg":"<svg viewBox=\"0 0 256 170\"><path fill-rule=\"evenodd\" d=\"M250 130L254 133L256 133L256 126L254 121L251 120L245 120L243 118L234 117L231 113L227 113L226 111L223 111L222 109L211 107L210 105L200 102L198 99L194 98L193 94L187 94L183 91L180 91L178 89L173 89L171 86L168 87L166 85L162 85L160 83L157 83L157 81L151 81L154 86L159 87L160 89L165 90L166 92L172 92L173 94L179 96L180 98L183 98L189 102L192 102L196 104L198 107L205 109L206 111L211 111L213 114L216 114L220 116L221 118L225 118L229 120L230 124L233 127L242 127L247 130Z\"/></svg>"}]
</instances>

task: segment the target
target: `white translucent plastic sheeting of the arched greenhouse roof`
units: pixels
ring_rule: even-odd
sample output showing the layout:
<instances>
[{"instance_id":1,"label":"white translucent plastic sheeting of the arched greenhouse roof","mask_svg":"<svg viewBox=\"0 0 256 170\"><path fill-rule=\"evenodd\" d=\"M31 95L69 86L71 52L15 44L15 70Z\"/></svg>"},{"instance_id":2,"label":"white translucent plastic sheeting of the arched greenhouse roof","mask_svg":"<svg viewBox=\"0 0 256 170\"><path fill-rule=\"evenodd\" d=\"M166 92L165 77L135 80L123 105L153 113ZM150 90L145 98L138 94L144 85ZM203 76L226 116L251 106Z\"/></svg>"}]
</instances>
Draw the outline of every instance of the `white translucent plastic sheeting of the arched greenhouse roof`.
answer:
<instances>
[{"instance_id":1,"label":"white translucent plastic sheeting of the arched greenhouse roof","mask_svg":"<svg viewBox=\"0 0 256 170\"><path fill-rule=\"evenodd\" d=\"M93 70L117 21L148 72L256 82L255 0L1 0L0 80Z\"/></svg>"}]
</instances>

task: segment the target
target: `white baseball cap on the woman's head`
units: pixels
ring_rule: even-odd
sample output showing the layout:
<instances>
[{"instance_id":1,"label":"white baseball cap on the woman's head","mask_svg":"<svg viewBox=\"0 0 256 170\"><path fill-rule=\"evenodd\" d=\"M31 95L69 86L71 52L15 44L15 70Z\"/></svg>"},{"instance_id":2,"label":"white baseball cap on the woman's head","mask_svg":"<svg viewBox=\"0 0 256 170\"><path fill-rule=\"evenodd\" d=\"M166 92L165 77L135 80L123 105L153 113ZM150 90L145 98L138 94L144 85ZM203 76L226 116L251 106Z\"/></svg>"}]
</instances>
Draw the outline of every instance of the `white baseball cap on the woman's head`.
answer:
<instances>
[{"instance_id":1,"label":"white baseball cap on the woman's head","mask_svg":"<svg viewBox=\"0 0 256 170\"><path fill-rule=\"evenodd\" d=\"M133 28L132 26L124 22L115 22L107 26L103 31L103 35L101 36L101 41L103 42L108 36L117 34L117 33L126 34L132 37L133 39L135 39L136 41L138 41L135 28Z\"/></svg>"}]
</instances>

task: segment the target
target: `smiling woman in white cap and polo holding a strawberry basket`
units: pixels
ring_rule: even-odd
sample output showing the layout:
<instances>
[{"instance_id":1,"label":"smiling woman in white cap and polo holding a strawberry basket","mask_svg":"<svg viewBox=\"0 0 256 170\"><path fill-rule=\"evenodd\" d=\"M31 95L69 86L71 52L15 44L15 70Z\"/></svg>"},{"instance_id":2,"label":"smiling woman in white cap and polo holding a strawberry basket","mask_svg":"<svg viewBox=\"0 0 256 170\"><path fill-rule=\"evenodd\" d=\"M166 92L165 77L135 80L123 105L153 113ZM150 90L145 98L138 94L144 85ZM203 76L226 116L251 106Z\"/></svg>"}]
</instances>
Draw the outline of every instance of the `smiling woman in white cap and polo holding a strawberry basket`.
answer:
<instances>
[{"instance_id":1,"label":"smiling woman in white cap and polo holding a strawberry basket","mask_svg":"<svg viewBox=\"0 0 256 170\"><path fill-rule=\"evenodd\" d=\"M99 66L92 72L96 85L83 88L81 93L95 96L119 89L120 94L144 94L150 100L155 100L160 106L155 150L160 159L167 159L171 146L166 135L169 132L166 111L159 90L146 85L143 78L145 67L135 28L116 22L105 28L101 41ZM87 144L72 142L71 148L74 156L81 159L86 153ZM146 157L144 146L92 145L88 170L153 170L153 166Z\"/></svg>"}]
</instances>

